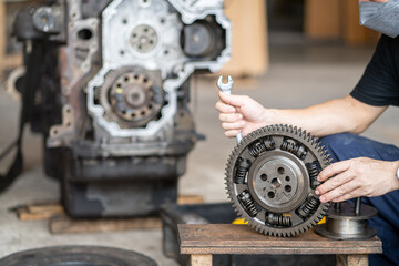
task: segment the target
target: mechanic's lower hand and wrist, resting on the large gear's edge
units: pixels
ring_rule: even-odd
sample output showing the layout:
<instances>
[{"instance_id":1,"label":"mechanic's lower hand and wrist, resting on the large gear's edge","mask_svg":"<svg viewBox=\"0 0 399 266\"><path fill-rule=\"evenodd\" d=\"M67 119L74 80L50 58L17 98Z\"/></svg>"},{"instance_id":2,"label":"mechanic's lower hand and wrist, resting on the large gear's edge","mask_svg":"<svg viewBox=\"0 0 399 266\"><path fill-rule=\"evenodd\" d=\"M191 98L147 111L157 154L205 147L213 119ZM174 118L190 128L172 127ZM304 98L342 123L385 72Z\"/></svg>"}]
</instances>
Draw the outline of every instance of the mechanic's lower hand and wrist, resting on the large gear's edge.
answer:
<instances>
[{"instance_id":1,"label":"mechanic's lower hand and wrist, resting on the large gear's edge","mask_svg":"<svg viewBox=\"0 0 399 266\"><path fill-rule=\"evenodd\" d=\"M358 157L334 163L323 170L318 181L326 181L316 188L320 202L344 202L359 196L380 196L399 190L396 171L399 161L387 162Z\"/></svg>"}]
</instances>

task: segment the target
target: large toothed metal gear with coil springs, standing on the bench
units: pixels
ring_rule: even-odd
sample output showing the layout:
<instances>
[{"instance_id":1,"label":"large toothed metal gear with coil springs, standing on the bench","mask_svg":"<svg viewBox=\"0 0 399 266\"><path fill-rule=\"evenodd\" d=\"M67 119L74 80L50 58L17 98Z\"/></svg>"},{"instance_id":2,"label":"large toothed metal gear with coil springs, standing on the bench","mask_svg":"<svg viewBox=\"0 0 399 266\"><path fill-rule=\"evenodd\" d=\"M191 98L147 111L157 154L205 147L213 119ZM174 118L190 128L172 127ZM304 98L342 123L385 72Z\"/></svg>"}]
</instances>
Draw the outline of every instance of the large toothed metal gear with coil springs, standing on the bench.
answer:
<instances>
[{"instance_id":1,"label":"large toothed metal gear with coil springs, standing on the bench","mask_svg":"<svg viewBox=\"0 0 399 266\"><path fill-rule=\"evenodd\" d=\"M226 167L228 198L242 218L266 235L290 237L316 225L329 203L315 188L329 155L317 137L291 125L269 125L245 136Z\"/></svg>"}]
</instances>

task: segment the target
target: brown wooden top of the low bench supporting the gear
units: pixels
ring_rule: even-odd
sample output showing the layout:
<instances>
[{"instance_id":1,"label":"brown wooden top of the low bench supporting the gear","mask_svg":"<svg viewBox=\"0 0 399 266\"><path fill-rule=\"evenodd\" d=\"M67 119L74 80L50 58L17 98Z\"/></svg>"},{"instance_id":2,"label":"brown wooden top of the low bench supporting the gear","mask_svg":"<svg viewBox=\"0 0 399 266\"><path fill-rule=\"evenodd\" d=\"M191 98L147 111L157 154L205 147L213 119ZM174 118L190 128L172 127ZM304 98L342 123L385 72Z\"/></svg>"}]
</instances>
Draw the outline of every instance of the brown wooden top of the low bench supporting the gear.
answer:
<instances>
[{"instance_id":1,"label":"brown wooden top of the low bench supporting the gear","mask_svg":"<svg viewBox=\"0 0 399 266\"><path fill-rule=\"evenodd\" d=\"M381 241L334 241L314 229L290 238L259 234L246 225L182 224L182 254L371 254L382 253Z\"/></svg>"}]
</instances>

